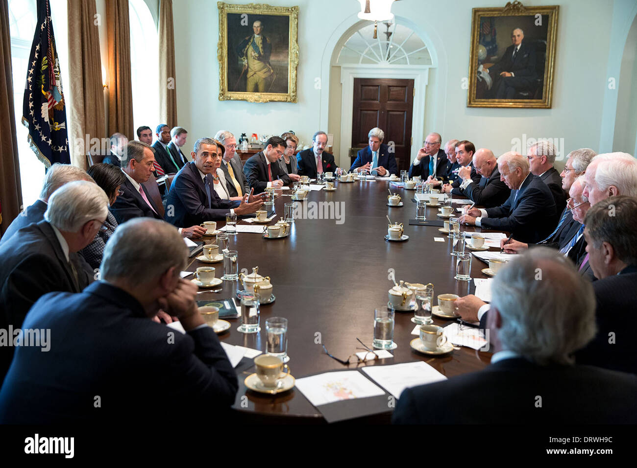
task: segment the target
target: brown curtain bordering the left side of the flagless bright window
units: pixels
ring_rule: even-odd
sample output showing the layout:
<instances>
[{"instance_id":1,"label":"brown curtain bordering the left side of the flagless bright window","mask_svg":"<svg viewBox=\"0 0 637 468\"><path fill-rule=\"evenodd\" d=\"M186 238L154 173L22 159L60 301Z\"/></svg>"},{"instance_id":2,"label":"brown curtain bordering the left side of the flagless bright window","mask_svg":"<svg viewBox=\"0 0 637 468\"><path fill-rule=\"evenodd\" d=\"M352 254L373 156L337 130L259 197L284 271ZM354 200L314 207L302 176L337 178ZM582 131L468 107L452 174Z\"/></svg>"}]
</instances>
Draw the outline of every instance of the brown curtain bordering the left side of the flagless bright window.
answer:
<instances>
[{"instance_id":1,"label":"brown curtain bordering the left side of the flagless bright window","mask_svg":"<svg viewBox=\"0 0 637 468\"><path fill-rule=\"evenodd\" d=\"M106 0L108 33L108 134L134 139L132 125L131 32L128 0Z\"/></svg>"}]
</instances>

